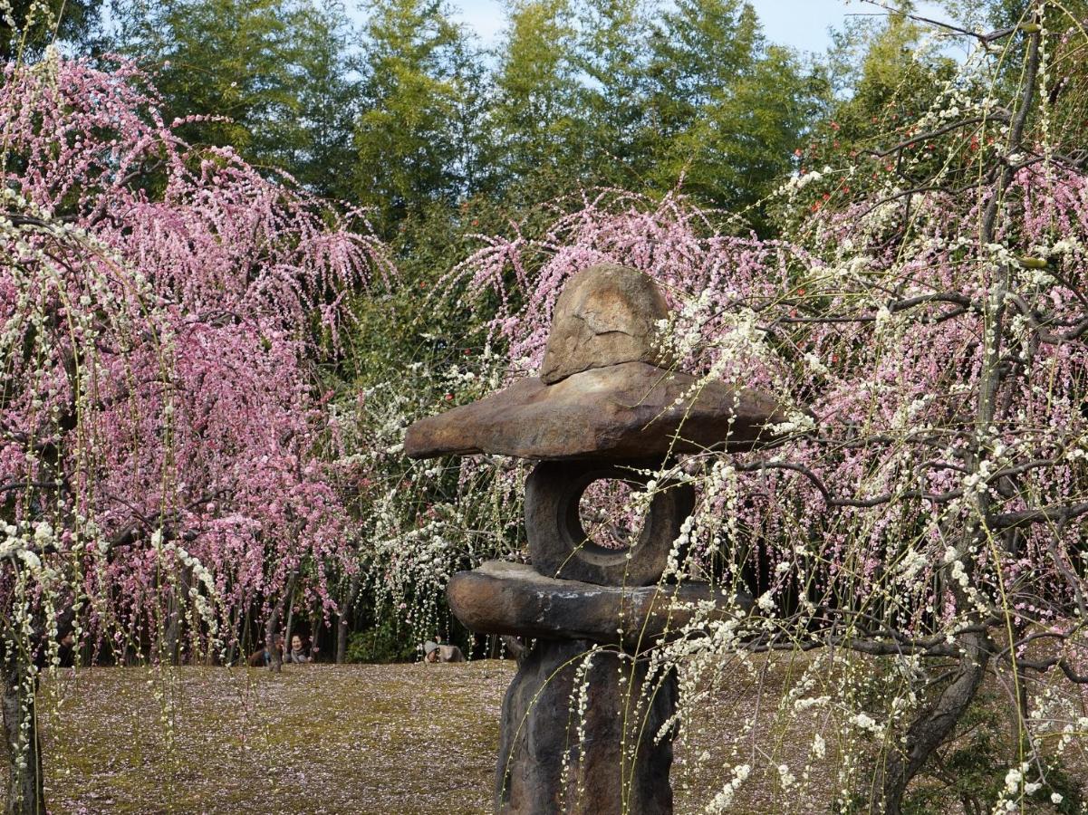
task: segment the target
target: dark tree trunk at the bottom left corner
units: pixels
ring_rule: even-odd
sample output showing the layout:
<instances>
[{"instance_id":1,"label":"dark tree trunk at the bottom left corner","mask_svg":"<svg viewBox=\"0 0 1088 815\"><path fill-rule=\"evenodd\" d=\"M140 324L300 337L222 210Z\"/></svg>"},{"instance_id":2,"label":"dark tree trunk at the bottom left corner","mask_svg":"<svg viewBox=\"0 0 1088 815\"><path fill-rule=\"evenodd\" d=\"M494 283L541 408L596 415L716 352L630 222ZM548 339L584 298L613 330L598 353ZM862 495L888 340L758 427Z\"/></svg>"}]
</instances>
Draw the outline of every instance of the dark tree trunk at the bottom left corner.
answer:
<instances>
[{"instance_id":1,"label":"dark tree trunk at the bottom left corner","mask_svg":"<svg viewBox=\"0 0 1088 815\"><path fill-rule=\"evenodd\" d=\"M8 740L8 815L42 815L46 812L41 739L34 706L37 677L27 677L27 666L12 657L3 666L3 729ZM24 729L23 724L27 727ZM24 736L25 733L25 736Z\"/></svg>"}]
</instances>

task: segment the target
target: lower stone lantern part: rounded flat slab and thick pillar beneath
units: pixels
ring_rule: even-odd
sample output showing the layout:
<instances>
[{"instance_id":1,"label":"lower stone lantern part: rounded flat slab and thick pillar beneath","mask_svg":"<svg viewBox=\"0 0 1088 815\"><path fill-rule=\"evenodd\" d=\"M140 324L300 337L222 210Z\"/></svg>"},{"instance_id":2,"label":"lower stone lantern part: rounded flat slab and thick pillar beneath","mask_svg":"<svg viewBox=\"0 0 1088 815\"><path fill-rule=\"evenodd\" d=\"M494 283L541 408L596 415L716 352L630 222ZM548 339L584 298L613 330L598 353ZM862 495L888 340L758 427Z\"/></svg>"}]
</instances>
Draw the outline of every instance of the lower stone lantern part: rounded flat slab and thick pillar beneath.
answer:
<instances>
[{"instance_id":1,"label":"lower stone lantern part: rounded flat slab and thick pillar beneath","mask_svg":"<svg viewBox=\"0 0 1088 815\"><path fill-rule=\"evenodd\" d=\"M638 655L715 600L709 585L593 585L492 560L456 575L448 597L473 631L535 641L503 703L496 812L672 811L662 728L676 676Z\"/></svg>"}]
</instances>

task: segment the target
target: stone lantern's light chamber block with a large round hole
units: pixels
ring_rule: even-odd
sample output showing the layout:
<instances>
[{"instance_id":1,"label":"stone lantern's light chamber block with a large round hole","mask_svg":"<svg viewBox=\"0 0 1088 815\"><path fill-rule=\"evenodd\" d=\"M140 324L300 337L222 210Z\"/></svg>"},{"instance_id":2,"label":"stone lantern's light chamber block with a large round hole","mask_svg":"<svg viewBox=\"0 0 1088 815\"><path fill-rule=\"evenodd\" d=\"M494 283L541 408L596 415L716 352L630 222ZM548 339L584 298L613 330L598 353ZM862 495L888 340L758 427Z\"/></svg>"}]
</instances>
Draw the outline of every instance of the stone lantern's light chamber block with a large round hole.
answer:
<instances>
[{"instance_id":1,"label":"stone lantern's light chamber block with a large round hole","mask_svg":"<svg viewBox=\"0 0 1088 815\"><path fill-rule=\"evenodd\" d=\"M665 571L680 526L695 506L690 484L659 484L634 545L606 548L590 540L579 501L599 479L644 486L646 477L619 465L541 461L526 482L526 534L541 575L598 585L652 585ZM681 553L682 556L682 553Z\"/></svg>"}]
</instances>

